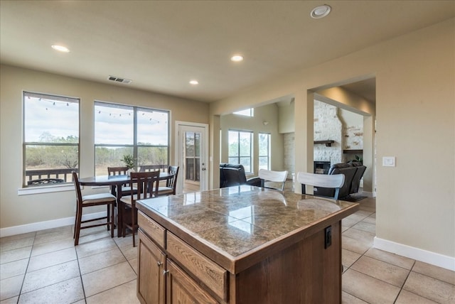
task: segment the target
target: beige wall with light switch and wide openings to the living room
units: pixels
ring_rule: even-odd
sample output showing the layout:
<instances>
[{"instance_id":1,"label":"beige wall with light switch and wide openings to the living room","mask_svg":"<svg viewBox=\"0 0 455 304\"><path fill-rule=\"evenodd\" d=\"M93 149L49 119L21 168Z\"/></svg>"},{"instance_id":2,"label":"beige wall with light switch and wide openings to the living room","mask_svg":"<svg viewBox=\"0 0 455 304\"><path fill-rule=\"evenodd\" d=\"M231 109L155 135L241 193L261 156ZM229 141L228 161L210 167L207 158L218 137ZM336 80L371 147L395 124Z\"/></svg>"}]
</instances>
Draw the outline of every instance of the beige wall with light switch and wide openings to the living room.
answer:
<instances>
[{"instance_id":1,"label":"beige wall with light switch and wide openings to the living room","mask_svg":"<svg viewBox=\"0 0 455 304\"><path fill-rule=\"evenodd\" d=\"M376 235L453 259L454 21L452 18L262 83L210 104L210 114L228 112L252 104L252 100L262 103L293 94L295 115L299 117L295 120L296 171L305 171L313 159L311 92L375 76L378 164L383 156L395 156L397 163L394 168L377 166ZM373 121L364 131L373 137L370 126ZM371 153L373 158L373 151L364 149L364 153Z\"/></svg>"}]
</instances>

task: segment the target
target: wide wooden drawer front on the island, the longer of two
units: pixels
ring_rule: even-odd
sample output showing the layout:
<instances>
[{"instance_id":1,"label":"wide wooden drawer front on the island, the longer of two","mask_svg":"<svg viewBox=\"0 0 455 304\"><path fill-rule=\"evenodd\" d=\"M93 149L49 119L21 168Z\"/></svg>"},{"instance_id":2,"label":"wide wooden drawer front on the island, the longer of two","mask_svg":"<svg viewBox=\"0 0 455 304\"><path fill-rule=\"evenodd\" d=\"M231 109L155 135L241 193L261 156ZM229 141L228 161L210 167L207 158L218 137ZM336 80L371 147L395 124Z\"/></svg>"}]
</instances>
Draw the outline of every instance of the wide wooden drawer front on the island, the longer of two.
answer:
<instances>
[{"instance_id":1,"label":"wide wooden drawer front on the island, the longer of two","mask_svg":"<svg viewBox=\"0 0 455 304\"><path fill-rule=\"evenodd\" d=\"M228 300L228 271L168 232L166 251L223 300Z\"/></svg>"}]
</instances>

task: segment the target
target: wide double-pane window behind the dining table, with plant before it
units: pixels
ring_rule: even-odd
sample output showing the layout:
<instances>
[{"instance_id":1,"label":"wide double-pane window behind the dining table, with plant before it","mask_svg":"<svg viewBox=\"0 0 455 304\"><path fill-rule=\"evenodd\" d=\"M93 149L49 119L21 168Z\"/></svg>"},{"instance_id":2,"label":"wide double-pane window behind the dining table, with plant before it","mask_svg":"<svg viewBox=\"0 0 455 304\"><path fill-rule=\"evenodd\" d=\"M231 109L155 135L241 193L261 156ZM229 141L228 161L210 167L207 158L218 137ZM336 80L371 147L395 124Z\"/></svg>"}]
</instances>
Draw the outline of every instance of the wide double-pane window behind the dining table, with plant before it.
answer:
<instances>
[{"instance_id":1,"label":"wide double-pane window behind the dining table, with plant before it","mask_svg":"<svg viewBox=\"0 0 455 304\"><path fill-rule=\"evenodd\" d=\"M131 154L141 165L168 165L169 112L95 102L95 175L124 166Z\"/></svg>"}]
</instances>

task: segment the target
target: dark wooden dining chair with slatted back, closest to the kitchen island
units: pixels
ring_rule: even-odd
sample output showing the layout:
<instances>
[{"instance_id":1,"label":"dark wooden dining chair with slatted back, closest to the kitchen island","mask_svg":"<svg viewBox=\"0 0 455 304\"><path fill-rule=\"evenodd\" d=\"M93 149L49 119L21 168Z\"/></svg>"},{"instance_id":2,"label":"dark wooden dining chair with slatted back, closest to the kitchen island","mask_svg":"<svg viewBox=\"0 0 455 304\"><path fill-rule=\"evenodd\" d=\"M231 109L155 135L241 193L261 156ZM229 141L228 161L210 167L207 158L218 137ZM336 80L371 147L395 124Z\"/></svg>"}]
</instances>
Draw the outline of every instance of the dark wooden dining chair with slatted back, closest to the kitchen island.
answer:
<instances>
[{"instance_id":1,"label":"dark wooden dining chair with slatted back, closest to the kitchen island","mask_svg":"<svg viewBox=\"0 0 455 304\"><path fill-rule=\"evenodd\" d=\"M156 197L158 194L159 171L151 172L132 172L130 183L137 185L137 192L131 192L120 199L122 204L121 212L123 215L122 236L125 237L126 229L131 229L133 234L133 246L136 246L134 234L137 232L137 208L136 201L146 198ZM127 221L127 210L131 213L131 222Z\"/></svg>"}]
</instances>

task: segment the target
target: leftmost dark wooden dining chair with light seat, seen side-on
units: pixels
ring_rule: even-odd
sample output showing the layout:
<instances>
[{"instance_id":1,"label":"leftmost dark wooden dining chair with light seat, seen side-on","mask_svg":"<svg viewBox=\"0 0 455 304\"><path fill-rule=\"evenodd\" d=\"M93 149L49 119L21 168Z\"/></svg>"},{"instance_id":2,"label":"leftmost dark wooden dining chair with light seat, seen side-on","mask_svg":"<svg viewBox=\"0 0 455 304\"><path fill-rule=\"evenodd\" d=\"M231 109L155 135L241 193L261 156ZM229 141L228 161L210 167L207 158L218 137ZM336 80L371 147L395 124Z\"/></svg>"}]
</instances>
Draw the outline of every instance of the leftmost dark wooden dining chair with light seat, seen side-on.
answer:
<instances>
[{"instance_id":1,"label":"leftmost dark wooden dining chair with light seat, seen side-on","mask_svg":"<svg viewBox=\"0 0 455 304\"><path fill-rule=\"evenodd\" d=\"M110 194L110 193L100 193L100 194L93 194L93 195L83 195L80 190L80 183L79 178L77 178L77 173L73 172L73 184L75 187L76 192L76 216L75 216L75 224L74 224L74 245L77 246L79 244L79 235L81 229L87 229L92 227L104 226L107 225L107 229L111 230L111 237L114 237L114 205L117 198ZM93 206L100 206L100 205L107 205L107 216L106 217L97 217L96 219L86 219L82 221L82 209L84 207L93 207ZM110 208L110 210L109 210ZM110 215L110 220L109 220ZM106 219L105 222L85 225L82 227L82 224L87 222L95 222L100 221L102 219Z\"/></svg>"}]
</instances>

